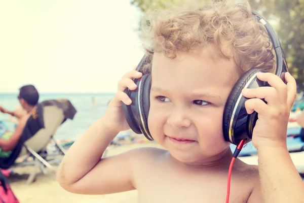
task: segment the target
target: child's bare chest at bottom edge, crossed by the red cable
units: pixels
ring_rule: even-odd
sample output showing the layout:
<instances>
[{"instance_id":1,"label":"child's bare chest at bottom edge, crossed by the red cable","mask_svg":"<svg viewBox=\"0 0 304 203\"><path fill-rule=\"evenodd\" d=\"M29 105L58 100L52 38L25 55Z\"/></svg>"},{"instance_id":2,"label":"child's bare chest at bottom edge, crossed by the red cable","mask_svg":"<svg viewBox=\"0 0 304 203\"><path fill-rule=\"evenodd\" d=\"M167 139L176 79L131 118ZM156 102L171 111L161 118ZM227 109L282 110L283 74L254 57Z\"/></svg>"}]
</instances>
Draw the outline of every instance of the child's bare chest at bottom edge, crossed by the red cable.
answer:
<instances>
[{"instance_id":1,"label":"child's bare chest at bottom edge, crossed by the red cable","mask_svg":"<svg viewBox=\"0 0 304 203\"><path fill-rule=\"evenodd\" d=\"M137 181L139 202L225 202L227 177L224 174L198 175L155 171ZM251 193L248 182L232 180L231 203L245 203Z\"/></svg>"}]
</instances>

